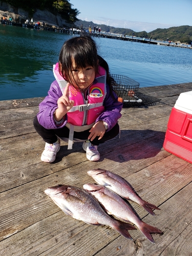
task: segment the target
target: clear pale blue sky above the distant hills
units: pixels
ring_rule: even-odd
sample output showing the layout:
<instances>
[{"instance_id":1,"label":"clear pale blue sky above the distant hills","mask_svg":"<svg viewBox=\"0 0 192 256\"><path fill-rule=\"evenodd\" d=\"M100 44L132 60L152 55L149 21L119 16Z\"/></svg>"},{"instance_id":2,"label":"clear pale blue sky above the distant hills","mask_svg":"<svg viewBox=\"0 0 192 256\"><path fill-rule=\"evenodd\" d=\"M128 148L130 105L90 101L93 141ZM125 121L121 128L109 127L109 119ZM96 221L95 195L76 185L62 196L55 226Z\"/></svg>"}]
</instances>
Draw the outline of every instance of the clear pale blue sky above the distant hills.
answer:
<instances>
[{"instance_id":1,"label":"clear pale blue sky above the distant hills","mask_svg":"<svg viewBox=\"0 0 192 256\"><path fill-rule=\"evenodd\" d=\"M78 19L135 32L192 26L192 0L70 0Z\"/></svg>"}]
</instances>

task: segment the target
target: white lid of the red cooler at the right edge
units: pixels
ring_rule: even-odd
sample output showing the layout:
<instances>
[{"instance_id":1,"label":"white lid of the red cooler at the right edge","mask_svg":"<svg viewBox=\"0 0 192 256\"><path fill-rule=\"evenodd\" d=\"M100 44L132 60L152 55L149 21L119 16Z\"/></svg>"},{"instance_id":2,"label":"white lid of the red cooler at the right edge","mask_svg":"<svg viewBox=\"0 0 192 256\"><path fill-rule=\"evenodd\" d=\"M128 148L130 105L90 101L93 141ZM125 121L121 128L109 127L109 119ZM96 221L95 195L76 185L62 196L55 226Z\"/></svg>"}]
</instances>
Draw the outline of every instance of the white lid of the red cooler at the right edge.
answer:
<instances>
[{"instance_id":1,"label":"white lid of the red cooler at the right edge","mask_svg":"<svg viewBox=\"0 0 192 256\"><path fill-rule=\"evenodd\" d=\"M181 93L174 108L192 114L192 91Z\"/></svg>"}]
</instances>

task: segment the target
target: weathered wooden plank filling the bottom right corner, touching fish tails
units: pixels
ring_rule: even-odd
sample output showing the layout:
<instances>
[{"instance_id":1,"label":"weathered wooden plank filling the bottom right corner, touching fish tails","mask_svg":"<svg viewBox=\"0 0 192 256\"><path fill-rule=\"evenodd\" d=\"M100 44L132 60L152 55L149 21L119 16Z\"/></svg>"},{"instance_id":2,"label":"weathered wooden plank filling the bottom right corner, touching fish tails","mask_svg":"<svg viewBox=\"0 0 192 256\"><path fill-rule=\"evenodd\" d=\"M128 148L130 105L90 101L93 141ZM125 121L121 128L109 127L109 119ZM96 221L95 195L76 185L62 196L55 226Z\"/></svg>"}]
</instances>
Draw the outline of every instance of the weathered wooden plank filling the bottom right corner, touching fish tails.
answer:
<instances>
[{"instance_id":1,"label":"weathered wooden plank filling the bottom right corner, touching fish tails","mask_svg":"<svg viewBox=\"0 0 192 256\"><path fill-rule=\"evenodd\" d=\"M135 237L134 242L127 241L127 243L124 243L124 238L120 236L95 255L190 256L192 251L191 189L192 183L161 205L161 216L159 219L155 218L153 224L155 226L161 225L164 234L162 236L153 234L155 245L142 238L140 234ZM145 217L143 221L152 224L150 215Z\"/></svg>"}]
</instances>

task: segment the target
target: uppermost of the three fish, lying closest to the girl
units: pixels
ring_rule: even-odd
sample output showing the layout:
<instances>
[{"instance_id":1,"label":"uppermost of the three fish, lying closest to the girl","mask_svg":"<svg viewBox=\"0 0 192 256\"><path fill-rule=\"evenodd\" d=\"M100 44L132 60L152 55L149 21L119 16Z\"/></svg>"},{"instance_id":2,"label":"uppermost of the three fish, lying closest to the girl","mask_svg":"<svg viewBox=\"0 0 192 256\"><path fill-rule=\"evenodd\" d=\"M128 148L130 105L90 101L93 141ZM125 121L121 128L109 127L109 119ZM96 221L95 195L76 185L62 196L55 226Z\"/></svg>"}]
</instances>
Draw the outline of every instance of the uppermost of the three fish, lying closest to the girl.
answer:
<instances>
[{"instance_id":1,"label":"uppermost of the three fish, lying closest to the girl","mask_svg":"<svg viewBox=\"0 0 192 256\"><path fill-rule=\"evenodd\" d=\"M113 190L115 193L117 193L122 198L125 198L127 200L131 200L133 202L138 203L151 215L155 215L155 213L153 212L153 209L160 210L154 204L151 204L151 203L148 203L148 202L142 200L142 198L140 198L134 192L134 190L131 188L130 184L125 179L120 177L119 175L114 174L114 173L110 172L109 170L104 170L104 169L92 169L92 170L89 170L87 173L98 184L104 185L105 187Z\"/></svg>"}]
</instances>

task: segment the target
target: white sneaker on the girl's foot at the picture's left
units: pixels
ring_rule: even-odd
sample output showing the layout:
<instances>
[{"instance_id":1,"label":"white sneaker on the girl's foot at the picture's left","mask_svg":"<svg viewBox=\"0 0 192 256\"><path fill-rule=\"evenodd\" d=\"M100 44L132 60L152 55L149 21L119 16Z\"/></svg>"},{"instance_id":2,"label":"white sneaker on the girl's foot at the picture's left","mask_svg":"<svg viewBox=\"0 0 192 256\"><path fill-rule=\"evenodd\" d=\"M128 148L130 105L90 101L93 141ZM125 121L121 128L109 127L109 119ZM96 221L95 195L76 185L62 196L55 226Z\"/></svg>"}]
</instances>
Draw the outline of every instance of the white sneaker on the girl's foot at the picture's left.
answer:
<instances>
[{"instance_id":1,"label":"white sneaker on the girl's foot at the picture's left","mask_svg":"<svg viewBox=\"0 0 192 256\"><path fill-rule=\"evenodd\" d=\"M60 150L60 139L57 139L57 141L53 144L49 144L46 142L45 150L44 152L42 152L40 160L47 163L54 162L57 152L59 152L59 150Z\"/></svg>"}]
</instances>

